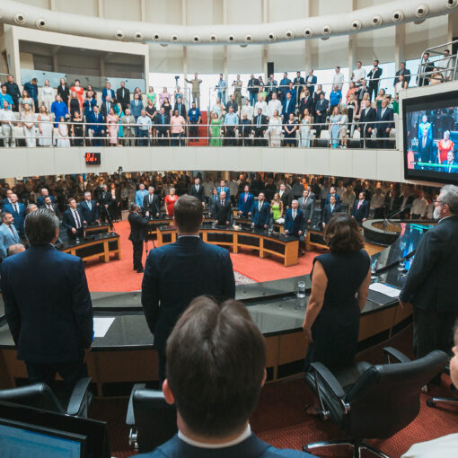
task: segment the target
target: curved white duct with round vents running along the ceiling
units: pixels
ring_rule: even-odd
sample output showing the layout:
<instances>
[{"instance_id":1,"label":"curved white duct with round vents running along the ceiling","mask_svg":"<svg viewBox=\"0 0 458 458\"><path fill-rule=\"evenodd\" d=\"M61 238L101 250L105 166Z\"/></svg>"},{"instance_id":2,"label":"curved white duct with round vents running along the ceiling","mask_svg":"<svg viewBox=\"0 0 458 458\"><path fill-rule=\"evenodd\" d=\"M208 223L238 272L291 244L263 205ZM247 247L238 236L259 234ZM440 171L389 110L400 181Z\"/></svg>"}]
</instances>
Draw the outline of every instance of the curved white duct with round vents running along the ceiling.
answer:
<instances>
[{"instance_id":1,"label":"curved white duct with round vents running along the ceiling","mask_svg":"<svg viewBox=\"0 0 458 458\"><path fill-rule=\"evenodd\" d=\"M288 40L326 39L389 27L402 22L453 13L458 0L397 0L351 13L307 17L263 24L175 24L115 21L93 16L58 13L44 8L2 0L0 21L32 29L57 31L105 40L161 44L269 44Z\"/></svg>"}]
</instances>

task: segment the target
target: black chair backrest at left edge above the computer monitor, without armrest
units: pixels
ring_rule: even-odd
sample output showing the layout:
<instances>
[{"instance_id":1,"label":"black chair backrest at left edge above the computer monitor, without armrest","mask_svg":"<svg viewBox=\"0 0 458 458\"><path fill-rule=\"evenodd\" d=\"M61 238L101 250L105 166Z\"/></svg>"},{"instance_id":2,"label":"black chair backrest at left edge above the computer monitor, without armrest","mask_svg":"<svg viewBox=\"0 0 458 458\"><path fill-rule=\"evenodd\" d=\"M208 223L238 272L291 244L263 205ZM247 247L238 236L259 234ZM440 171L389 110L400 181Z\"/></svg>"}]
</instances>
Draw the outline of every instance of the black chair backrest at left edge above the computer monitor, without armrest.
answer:
<instances>
[{"instance_id":1,"label":"black chair backrest at left edge above the computer monitor, without armrest","mask_svg":"<svg viewBox=\"0 0 458 458\"><path fill-rule=\"evenodd\" d=\"M35 383L22 386L21 388L10 388L0 390L0 401L22 404L36 409L50 410L51 412L66 413L62 409L56 395L46 383Z\"/></svg>"}]
</instances>

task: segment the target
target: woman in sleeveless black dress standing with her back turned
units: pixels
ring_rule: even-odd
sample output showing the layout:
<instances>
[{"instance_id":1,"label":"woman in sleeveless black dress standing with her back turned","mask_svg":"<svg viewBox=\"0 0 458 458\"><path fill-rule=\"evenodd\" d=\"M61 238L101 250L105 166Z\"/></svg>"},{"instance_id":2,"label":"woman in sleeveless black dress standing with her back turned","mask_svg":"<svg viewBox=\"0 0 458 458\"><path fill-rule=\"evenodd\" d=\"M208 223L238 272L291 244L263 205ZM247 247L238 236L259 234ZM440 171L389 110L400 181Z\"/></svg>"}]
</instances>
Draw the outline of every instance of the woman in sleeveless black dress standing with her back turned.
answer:
<instances>
[{"instance_id":1,"label":"woman in sleeveless black dress standing with her back turned","mask_svg":"<svg viewBox=\"0 0 458 458\"><path fill-rule=\"evenodd\" d=\"M357 352L359 316L371 282L370 258L357 220L338 213L324 231L330 252L313 260L312 292L303 329L308 342L305 371L320 362L348 366ZM318 402L307 409L317 414Z\"/></svg>"}]
</instances>

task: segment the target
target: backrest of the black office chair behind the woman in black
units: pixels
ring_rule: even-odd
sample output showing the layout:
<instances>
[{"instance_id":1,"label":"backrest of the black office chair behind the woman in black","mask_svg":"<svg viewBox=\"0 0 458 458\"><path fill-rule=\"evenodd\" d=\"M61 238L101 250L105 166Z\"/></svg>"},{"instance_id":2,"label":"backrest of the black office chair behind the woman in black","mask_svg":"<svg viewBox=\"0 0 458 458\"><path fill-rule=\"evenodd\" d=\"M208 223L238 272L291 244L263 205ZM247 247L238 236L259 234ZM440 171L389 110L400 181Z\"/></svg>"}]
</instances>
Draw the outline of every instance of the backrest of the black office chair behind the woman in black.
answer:
<instances>
[{"instance_id":1,"label":"backrest of the black office chair behind the woman in black","mask_svg":"<svg viewBox=\"0 0 458 458\"><path fill-rule=\"evenodd\" d=\"M445 352L391 365L372 366L346 396L351 410L342 427L354 438L387 439L418 415L421 388L444 369Z\"/></svg>"}]
</instances>

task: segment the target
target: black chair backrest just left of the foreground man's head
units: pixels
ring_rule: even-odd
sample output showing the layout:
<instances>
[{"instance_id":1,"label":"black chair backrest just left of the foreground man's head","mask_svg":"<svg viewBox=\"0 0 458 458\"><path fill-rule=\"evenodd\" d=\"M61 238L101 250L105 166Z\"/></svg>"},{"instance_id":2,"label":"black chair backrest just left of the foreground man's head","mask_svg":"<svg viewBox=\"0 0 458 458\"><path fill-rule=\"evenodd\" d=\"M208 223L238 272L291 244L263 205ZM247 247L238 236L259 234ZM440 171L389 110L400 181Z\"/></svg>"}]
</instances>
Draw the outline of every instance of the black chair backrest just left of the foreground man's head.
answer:
<instances>
[{"instance_id":1,"label":"black chair backrest just left of the foreground man's head","mask_svg":"<svg viewBox=\"0 0 458 458\"><path fill-rule=\"evenodd\" d=\"M165 402L163 392L140 389L133 394L138 452L151 452L177 432L175 406Z\"/></svg>"}]
</instances>

